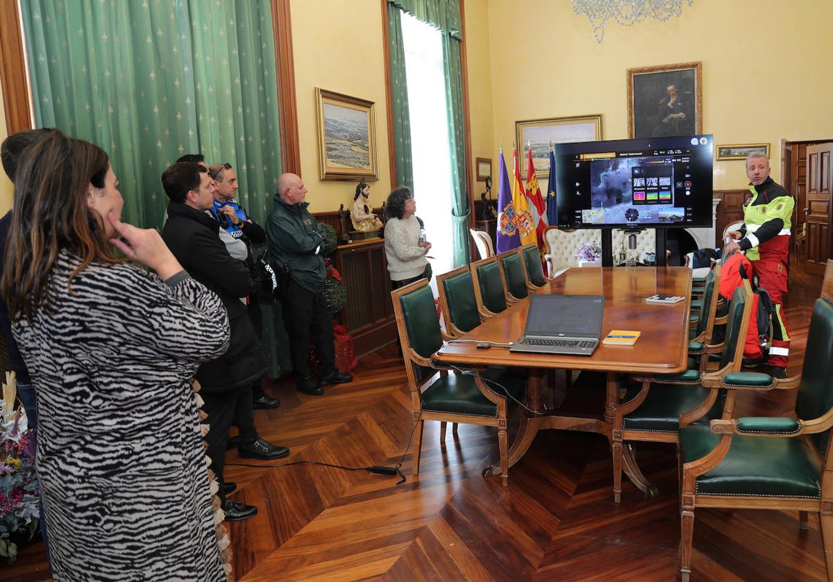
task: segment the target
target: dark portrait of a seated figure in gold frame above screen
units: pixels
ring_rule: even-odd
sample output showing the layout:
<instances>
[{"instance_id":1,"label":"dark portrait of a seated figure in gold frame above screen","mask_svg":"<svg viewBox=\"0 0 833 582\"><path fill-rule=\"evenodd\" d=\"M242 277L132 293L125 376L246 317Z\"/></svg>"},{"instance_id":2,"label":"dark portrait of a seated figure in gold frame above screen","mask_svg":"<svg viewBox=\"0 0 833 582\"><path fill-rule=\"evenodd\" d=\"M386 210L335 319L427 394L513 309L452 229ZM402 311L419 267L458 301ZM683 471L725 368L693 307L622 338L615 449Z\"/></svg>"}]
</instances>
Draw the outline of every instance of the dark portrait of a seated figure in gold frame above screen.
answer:
<instances>
[{"instance_id":1,"label":"dark portrait of a seated figure in gold frame above screen","mask_svg":"<svg viewBox=\"0 0 833 582\"><path fill-rule=\"evenodd\" d=\"M631 138L703 133L702 63L627 70L627 128Z\"/></svg>"}]
</instances>

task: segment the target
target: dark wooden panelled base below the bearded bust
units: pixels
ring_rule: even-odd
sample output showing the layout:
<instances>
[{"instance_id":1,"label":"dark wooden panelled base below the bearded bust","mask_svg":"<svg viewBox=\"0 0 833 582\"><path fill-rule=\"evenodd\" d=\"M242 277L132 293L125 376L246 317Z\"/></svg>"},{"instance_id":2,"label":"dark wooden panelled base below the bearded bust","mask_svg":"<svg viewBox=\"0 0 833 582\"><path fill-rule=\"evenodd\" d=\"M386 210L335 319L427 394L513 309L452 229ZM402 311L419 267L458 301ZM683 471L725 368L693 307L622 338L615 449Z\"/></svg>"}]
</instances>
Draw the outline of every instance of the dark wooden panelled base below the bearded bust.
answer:
<instances>
[{"instance_id":1,"label":"dark wooden panelled base below the bearded bust","mask_svg":"<svg viewBox=\"0 0 833 582\"><path fill-rule=\"evenodd\" d=\"M347 305L340 319L353 337L357 356L361 358L396 342L397 320L391 303L384 239L339 245L332 253L332 261L347 288Z\"/></svg>"}]
</instances>

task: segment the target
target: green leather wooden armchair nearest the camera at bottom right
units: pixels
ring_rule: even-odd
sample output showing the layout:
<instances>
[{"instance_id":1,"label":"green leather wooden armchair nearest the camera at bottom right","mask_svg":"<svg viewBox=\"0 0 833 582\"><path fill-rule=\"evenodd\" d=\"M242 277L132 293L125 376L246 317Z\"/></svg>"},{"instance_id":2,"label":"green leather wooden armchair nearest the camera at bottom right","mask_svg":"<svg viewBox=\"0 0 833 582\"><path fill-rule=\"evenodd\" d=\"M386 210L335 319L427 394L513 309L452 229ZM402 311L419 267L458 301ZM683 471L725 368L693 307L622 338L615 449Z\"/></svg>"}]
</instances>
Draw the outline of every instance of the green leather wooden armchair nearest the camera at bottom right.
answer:
<instances>
[{"instance_id":1,"label":"green leather wooden armchair nearest the camera at bottom right","mask_svg":"<svg viewBox=\"0 0 833 582\"><path fill-rule=\"evenodd\" d=\"M726 379L735 390L798 388L797 418L712 420L680 430L681 574L691 574L696 507L789 509L801 529L820 514L827 579L833 577L833 261L807 332L800 376L746 372Z\"/></svg>"}]
</instances>

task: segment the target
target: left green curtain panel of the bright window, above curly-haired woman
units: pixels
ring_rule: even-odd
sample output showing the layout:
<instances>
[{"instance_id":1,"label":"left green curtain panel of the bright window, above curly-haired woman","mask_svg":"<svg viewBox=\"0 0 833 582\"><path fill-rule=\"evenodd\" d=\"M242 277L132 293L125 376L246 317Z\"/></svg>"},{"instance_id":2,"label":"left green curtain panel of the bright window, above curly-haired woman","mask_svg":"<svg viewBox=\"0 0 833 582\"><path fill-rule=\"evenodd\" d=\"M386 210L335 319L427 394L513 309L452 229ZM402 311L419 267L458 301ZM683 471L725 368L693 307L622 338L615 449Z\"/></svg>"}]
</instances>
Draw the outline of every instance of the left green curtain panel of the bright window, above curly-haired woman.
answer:
<instances>
[{"instance_id":1,"label":"left green curtain panel of the bright window, above curly-haired woman","mask_svg":"<svg viewBox=\"0 0 833 582\"><path fill-rule=\"evenodd\" d=\"M402 42L402 12L387 5L387 38L391 55L391 100L393 103L393 155L397 186L414 187L411 157L411 112L408 109L408 82L405 74L405 45Z\"/></svg>"}]
</instances>

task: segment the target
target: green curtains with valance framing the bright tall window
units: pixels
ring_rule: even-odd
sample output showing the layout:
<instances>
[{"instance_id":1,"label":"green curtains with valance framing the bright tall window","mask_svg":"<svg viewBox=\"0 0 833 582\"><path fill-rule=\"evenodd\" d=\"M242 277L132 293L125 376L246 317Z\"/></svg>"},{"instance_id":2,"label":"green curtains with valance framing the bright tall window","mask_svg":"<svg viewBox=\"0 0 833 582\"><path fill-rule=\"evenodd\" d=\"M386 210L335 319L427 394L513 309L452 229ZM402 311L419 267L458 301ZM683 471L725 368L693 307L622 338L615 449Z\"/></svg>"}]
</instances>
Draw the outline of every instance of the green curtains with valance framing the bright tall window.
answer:
<instances>
[{"instance_id":1,"label":"green curtains with valance framing the bright tall window","mask_svg":"<svg viewBox=\"0 0 833 582\"><path fill-rule=\"evenodd\" d=\"M393 99L393 128L397 163L407 164L408 178L413 177L411 163L411 133L407 113L407 83L405 75L405 50L402 45L401 12L405 11L422 22L439 28L442 33L443 66L446 77L446 104L448 106L448 143L451 150L451 214L454 233L452 246L456 267L470 260L468 243L468 217L471 213L466 189L466 139L463 123L463 93L461 75L461 19L460 0L388 0L387 22L390 38L391 78ZM407 128L402 125L407 124ZM407 133L406 133L407 132ZM403 138L404 136L404 138ZM405 145L407 141L407 146ZM399 183L407 183L399 178Z\"/></svg>"}]
</instances>

